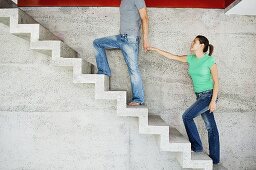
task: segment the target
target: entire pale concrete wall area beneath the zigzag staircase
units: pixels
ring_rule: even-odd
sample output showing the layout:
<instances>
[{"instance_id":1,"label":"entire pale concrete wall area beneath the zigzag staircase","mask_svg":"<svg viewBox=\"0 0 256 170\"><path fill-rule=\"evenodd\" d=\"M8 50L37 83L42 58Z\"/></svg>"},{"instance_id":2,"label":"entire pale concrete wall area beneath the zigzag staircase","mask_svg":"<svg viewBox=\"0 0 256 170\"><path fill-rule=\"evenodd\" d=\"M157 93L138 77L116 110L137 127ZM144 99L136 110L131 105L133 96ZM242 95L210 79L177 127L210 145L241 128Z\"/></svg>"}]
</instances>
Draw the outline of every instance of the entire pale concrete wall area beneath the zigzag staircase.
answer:
<instances>
[{"instance_id":1,"label":"entire pale concrete wall area beneath the zigzag staircase","mask_svg":"<svg viewBox=\"0 0 256 170\"><path fill-rule=\"evenodd\" d=\"M114 101L94 99L94 85L73 84L72 70L0 23L1 170L181 169L137 119L116 116Z\"/></svg>"}]
</instances>

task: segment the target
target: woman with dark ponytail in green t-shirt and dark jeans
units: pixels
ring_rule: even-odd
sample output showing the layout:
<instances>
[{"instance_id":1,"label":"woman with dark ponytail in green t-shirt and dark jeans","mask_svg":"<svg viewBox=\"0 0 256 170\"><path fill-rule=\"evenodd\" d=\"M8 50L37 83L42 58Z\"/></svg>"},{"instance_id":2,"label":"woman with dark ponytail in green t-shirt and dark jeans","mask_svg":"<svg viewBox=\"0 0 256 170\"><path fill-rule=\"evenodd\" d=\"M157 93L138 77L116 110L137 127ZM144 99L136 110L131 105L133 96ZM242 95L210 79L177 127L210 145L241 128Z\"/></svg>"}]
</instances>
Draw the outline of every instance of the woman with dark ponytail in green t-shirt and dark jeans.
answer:
<instances>
[{"instance_id":1,"label":"woman with dark ponytail in green t-shirt and dark jeans","mask_svg":"<svg viewBox=\"0 0 256 170\"><path fill-rule=\"evenodd\" d=\"M209 49L209 54L206 52ZM213 46L206 37L198 35L191 44L190 55L177 56L169 52L150 47L166 58L188 63L188 73L192 78L196 102L188 108L182 116L191 149L194 152L202 152L203 146L198 134L194 118L201 115L207 131L209 141L209 156L214 164L220 161L219 133L214 119L213 111L216 109L217 95L219 90L218 70L215 59L211 57Z\"/></svg>"}]
</instances>

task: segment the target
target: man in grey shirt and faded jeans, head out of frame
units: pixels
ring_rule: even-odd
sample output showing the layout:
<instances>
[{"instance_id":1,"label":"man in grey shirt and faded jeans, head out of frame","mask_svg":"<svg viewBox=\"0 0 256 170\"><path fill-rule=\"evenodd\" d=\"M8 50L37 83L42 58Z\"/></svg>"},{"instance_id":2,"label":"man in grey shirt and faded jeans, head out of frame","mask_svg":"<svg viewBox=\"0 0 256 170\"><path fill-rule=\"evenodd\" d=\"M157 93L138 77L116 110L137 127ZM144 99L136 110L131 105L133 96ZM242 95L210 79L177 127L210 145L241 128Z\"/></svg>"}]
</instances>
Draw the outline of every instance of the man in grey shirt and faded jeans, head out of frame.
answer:
<instances>
[{"instance_id":1,"label":"man in grey shirt and faded jeans, head out of frame","mask_svg":"<svg viewBox=\"0 0 256 170\"><path fill-rule=\"evenodd\" d=\"M138 67L140 29L143 30L143 47L145 52L148 43L148 15L144 0L121 0L120 34L96 39L93 46L96 49L98 74L111 76L106 49L120 49L128 66L132 87L132 101L129 106L144 104L144 89Z\"/></svg>"}]
</instances>

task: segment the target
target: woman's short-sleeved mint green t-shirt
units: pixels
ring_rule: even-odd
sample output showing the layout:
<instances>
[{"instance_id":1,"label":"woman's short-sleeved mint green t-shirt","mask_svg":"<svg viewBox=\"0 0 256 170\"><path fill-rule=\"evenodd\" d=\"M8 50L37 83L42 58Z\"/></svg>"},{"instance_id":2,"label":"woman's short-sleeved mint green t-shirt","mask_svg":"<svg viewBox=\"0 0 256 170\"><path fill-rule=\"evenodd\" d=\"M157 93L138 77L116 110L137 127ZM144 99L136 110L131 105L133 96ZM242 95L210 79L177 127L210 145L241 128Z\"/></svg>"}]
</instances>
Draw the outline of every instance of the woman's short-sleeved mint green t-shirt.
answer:
<instances>
[{"instance_id":1,"label":"woman's short-sleeved mint green t-shirt","mask_svg":"<svg viewBox=\"0 0 256 170\"><path fill-rule=\"evenodd\" d=\"M187 55L189 65L188 73L192 79L194 91L196 93L213 89L211 67L215 64L215 59L208 54L202 58L195 55Z\"/></svg>"}]
</instances>

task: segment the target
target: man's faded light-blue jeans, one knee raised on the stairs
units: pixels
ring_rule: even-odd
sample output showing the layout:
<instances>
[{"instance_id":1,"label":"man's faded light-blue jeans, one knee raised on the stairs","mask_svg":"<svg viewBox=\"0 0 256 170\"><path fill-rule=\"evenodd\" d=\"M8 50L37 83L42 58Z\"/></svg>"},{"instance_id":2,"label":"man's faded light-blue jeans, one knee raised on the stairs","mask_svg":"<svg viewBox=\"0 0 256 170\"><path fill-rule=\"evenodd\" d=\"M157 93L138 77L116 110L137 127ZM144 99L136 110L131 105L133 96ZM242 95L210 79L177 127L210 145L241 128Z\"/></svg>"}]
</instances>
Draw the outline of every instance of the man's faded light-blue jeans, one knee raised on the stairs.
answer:
<instances>
[{"instance_id":1,"label":"man's faded light-blue jeans, one knee raised on the stairs","mask_svg":"<svg viewBox=\"0 0 256 170\"><path fill-rule=\"evenodd\" d=\"M107 76L111 76L111 70L108 64L106 49L120 49L122 51L131 79L132 101L144 103L144 89L138 66L139 43L139 37L120 34L96 39L93 41L93 46L96 49L98 74L105 74Z\"/></svg>"}]
</instances>

